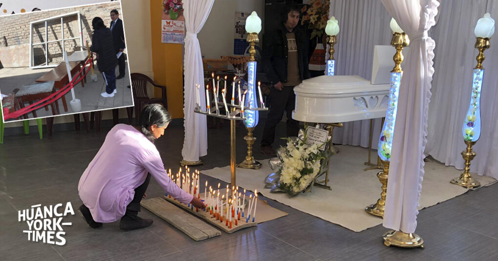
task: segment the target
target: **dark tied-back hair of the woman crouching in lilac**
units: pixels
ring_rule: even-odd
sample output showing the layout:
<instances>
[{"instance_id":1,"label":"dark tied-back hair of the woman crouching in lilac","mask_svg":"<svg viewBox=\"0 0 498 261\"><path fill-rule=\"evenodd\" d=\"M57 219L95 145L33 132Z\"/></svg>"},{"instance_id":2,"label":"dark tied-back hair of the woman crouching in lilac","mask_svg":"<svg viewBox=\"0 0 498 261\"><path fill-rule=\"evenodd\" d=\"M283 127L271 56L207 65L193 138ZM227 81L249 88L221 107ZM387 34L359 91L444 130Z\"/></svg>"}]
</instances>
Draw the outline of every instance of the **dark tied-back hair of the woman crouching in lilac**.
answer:
<instances>
[{"instance_id":1,"label":"dark tied-back hair of the woman crouching in lilac","mask_svg":"<svg viewBox=\"0 0 498 261\"><path fill-rule=\"evenodd\" d=\"M159 103L149 104L143 108L140 115L140 131L149 141L154 142L156 138L149 130L150 126L157 125L157 127L165 127L170 121L171 116L166 108Z\"/></svg>"}]
</instances>

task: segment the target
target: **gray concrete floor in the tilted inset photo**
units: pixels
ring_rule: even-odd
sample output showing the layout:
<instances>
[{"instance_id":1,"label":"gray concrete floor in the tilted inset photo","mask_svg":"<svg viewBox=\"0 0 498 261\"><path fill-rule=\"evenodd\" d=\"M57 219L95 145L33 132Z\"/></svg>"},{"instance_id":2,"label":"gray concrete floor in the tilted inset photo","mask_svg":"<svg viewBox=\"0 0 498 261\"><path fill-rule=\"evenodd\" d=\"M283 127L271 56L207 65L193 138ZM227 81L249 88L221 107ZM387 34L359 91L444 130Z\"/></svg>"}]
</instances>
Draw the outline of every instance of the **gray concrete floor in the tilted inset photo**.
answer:
<instances>
[{"instance_id":1,"label":"gray concrete floor in the tilted inset photo","mask_svg":"<svg viewBox=\"0 0 498 261\"><path fill-rule=\"evenodd\" d=\"M97 66L95 66L97 69ZM28 67L21 68L3 68L0 69L0 92L3 94L8 94L12 92L15 88L20 88L24 85L32 84L36 79L42 76L45 72L50 71L50 69L29 69ZM106 82L98 70L94 72L97 75L97 82L92 82L90 80L89 72L87 74L87 83L85 87L82 87L81 83L74 87L74 92L76 98L81 100L81 111L80 112L88 112L94 110L101 109L112 109L124 106L132 106L133 98L131 95L130 88L127 86L130 85L128 66L126 63L126 76L123 79L116 80L116 89L118 93L114 95L114 97L104 98L100 94L106 91ZM118 67L116 67L116 76L118 76ZM66 103L68 107L68 111L64 111L64 107L62 105L62 99L57 100L59 105L59 115L62 114L72 114L75 113L71 109L71 105L69 101L72 100L71 91L65 94ZM28 104L26 103L25 106ZM36 110L37 117L46 117L52 116L52 110L50 109L46 111L44 108L40 108ZM33 114L28 113L29 118L33 118ZM9 119L8 121L13 121L14 119Z\"/></svg>"}]
</instances>

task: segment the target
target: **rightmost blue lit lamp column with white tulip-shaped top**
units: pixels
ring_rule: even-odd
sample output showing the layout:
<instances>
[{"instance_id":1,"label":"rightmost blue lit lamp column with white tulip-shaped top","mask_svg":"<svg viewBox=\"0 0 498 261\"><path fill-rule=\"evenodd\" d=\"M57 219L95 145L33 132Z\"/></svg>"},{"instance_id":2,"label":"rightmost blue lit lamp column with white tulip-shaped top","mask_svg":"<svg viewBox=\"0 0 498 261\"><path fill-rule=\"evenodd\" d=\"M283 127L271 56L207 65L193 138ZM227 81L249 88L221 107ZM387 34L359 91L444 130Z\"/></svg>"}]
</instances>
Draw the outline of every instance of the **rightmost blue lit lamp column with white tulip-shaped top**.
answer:
<instances>
[{"instance_id":1,"label":"rightmost blue lit lamp column with white tulip-shaped top","mask_svg":"<svg viewBox=\"0 0 498 261\"><path fill-rule=\"evenodd\" d=\"M476 144L481 136L481 87L483 85L484 76L484 50L490 48L490 38L494 33L495 20L491 18L489 13L486 13L477 21L476 28L474 29L474 34L477 37L475 47L479 50L479 54L476 57L477 66L474 68L469 110L465 115L462 127L462 135L464 136L464 142L467 145L467 149L461 153L465 160L465 168L459 178L450 181L453 184L468 188L474 188L481 185L481 183L472 178L472 175L470 174L470 162L476 157L476 153L472 151L472 146Z\"/></svg>"}]
</instances>

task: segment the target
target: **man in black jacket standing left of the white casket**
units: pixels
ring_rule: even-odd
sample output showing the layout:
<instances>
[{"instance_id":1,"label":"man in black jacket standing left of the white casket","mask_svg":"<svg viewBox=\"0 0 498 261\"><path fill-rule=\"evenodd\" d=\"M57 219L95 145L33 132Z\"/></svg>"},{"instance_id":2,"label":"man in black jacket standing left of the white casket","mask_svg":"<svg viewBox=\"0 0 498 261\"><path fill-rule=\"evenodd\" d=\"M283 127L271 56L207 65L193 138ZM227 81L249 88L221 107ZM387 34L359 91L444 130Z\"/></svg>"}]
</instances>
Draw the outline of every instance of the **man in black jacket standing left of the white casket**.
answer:
<instances>
[{"instance_id":1,"label":"man in black jacket standing left of the white casket","mask_svg":"<svg viewBox=\"0 0 498 261\"><path fill-rule=\"evenodd\" d=\"M310 78L308 70L308 39L296 26L301 9L286 6L280 16L280 27L268 32L263 42L262 68L273 87L270 88L271 106L264 124L261 152L275 155L271 144L275 140L275 126L287 114L287 137L297 136L299 122L292 119L296 100L294 87Z\"/></svg>"}]
</instances>

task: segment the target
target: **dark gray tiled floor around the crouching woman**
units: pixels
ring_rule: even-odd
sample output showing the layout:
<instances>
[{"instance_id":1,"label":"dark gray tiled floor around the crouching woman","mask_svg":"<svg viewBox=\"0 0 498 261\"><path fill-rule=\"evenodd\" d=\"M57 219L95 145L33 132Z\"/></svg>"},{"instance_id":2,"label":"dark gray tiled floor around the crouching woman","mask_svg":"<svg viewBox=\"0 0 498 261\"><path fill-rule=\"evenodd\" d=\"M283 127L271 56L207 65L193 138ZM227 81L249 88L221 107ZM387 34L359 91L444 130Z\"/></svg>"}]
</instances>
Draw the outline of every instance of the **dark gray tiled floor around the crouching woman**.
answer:
<instances>
[{"instance_id":1,"label":"dark gray tiled floor around the crouching woman","mask_svg":"<svg viewBox=\"0 0 498 261\"><path fill-rule=\"evenodd\" d=\"M255 130L261 137L263 123ZM33 204L71 202L76 209L78 180L93 159L107 130L56 132L52 139L39 140L36 133L28 136L7 136L0 145L0 185L5 183L7 196L0 196L0 260L285 260L285 261L453 261L498 260L498 185L469 191L461 196L429 207L418 215L417 233L425 240L425 249L385 247L377 226L355 233L286 205L268 203L288 216L259 224L257 228L195 242L176 228L147 210L140 215L154 219L146 229L121 232L119 222L89 228L79 215L68 216L64 246L28 242L17 222L16 210ZM283 125L277 134L283 136ZM237 128L237 154L246 153L243 126ZM199 170L230 164L228 124L209 129L209 155ZM282 142L282 141L277 141ZM183 144L183 126L172 125L157 147L167 168L179 168ZM254 157L263 159L255 146ZM202 179L211 177L202 176ZM214 181L214 180L213 180ZM223 182L222 182L223 183ZM0 186L1 192L1 186ZM162 189L152 180L148 197L161 196ZM0 194L1 195L1 194ZM262 199L265 199L264 197ZM326 204L326 202L324 203Z\"/></svg>"}]
</instances>

